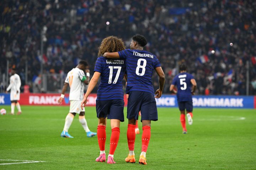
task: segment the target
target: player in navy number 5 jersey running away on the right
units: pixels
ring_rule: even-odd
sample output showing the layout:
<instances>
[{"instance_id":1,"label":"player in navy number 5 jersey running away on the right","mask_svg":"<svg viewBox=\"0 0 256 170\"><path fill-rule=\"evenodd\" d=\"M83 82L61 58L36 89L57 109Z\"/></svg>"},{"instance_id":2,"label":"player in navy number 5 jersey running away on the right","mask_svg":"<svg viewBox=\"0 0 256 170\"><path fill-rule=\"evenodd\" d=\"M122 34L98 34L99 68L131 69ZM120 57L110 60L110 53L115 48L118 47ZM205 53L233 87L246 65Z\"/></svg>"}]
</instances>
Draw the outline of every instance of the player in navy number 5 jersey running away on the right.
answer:
<instances>
[{"instance_id":1,"label":"player in navy number 5 jersey running away on the right","mask_svg":"<svg viewBox=\"0 0 256 170\"><path fill-rule=\"evenodd\" d=\"M180 121L183 128L183 134L187 133L186 129L186 119L185 119L185 109L187 112L188 124L192 125L193 120L193 102L192 95L196 91L196 80L191 74L187 73L187 67L184 63L180 65L180 74L176 75L170 86L170 91L177 94L178 107L180 109ZM177 86L177 90L174 87ZM192 87L192 88L191 88Z\"/></svg>"}]
</instances>

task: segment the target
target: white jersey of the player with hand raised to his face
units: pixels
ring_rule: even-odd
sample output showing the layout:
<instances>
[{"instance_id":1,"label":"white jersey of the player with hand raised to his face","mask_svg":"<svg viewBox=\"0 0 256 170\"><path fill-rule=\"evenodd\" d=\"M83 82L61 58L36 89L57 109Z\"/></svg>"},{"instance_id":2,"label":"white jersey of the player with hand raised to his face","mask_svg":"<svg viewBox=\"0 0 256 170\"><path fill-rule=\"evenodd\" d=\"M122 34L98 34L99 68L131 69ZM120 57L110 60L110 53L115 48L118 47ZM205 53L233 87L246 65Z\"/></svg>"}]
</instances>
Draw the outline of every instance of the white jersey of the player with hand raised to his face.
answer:
<instances>
[{"instance_id":1,"label":"white jersey of the player with hand raised to his face","mask_svg":"<svg viewBox=\"0 0 256 170\"><path fill-rule=\"evenodd\" d=\"M84 96L84 82L82 78L85 76L84 71L79 68L73 68L65 79L65 82L69 84L69 100L81 101Z\"/></svg>"}]
</instances>

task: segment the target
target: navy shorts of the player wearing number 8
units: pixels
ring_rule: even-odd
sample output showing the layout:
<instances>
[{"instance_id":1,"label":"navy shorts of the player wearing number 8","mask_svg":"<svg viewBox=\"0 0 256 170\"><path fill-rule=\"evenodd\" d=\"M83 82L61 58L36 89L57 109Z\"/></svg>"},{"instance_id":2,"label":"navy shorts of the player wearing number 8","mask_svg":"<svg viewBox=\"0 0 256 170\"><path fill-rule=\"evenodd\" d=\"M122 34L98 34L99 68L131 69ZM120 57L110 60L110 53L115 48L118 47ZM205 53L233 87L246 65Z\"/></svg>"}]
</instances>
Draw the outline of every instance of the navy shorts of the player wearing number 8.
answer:
<instances>
[{"instance_id":1,"label":"navy shorts of the player wearing number 8","mask_svg":"<svg viewBox=\"0 0 256 170\"><path fill-rule=\"evenodd\" d=\"M144 91L130 91L127 105L127 119L158 120L156 101L153 94Z\"/></svg>"}]
</instances>

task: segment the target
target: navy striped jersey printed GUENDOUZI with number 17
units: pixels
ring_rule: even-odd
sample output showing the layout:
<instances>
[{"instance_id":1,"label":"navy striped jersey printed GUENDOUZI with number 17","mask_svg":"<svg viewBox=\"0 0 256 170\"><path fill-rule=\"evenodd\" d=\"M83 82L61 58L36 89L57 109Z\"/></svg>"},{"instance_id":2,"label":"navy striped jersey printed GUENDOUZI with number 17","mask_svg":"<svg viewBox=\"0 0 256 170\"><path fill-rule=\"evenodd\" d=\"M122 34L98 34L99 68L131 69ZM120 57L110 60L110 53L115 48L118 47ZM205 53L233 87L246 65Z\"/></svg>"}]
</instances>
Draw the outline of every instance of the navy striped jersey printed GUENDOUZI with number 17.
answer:
<instances>
[{"instance_id":1,"label":"navy striped jersey printed GUENDOUZI with number 17","mask_svg":"<svg viewBox=\"0 0 256 170\"><path fill-rule=\"evenodd\" d=\"M126 72L124 60L98 57L94 72L101 73L101 81L97 90L97 100L123 100L122 80Z\"/></svg>"}]
</instances>

